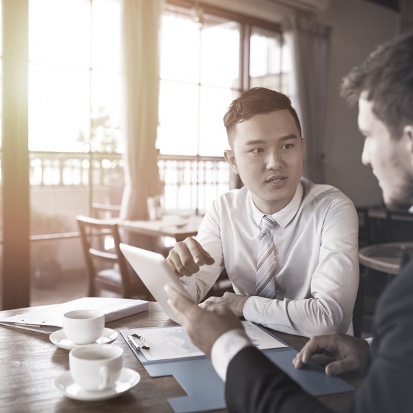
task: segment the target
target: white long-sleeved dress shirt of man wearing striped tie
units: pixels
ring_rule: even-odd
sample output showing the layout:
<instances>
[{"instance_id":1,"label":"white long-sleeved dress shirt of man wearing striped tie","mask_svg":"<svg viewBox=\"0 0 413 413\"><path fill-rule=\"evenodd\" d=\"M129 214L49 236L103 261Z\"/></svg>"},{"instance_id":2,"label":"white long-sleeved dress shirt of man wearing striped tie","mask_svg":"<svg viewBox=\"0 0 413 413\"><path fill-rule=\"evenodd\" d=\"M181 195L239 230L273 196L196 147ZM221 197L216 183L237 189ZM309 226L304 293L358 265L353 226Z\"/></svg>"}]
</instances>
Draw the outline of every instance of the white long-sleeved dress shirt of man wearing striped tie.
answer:
<instances>
[{"instance_id":1,"label":"white long-sleeved dress shirt of man wearing striped tie","mask_svg":"<svg viewBox=\"0 0 413 413\"><path fill-rule=\"evenodd\" d=\"M262 213L243 187L222 195L205 215L196 240L214 258L182 282L196 301L223 268L235 293L251 296L244 317L274 330L311 337L350 332L359 285L358 218L352 202L329 185L301 178L289 204L273 214L277 249L275 299L255 296Z\"/></svg>"}]
</instances>

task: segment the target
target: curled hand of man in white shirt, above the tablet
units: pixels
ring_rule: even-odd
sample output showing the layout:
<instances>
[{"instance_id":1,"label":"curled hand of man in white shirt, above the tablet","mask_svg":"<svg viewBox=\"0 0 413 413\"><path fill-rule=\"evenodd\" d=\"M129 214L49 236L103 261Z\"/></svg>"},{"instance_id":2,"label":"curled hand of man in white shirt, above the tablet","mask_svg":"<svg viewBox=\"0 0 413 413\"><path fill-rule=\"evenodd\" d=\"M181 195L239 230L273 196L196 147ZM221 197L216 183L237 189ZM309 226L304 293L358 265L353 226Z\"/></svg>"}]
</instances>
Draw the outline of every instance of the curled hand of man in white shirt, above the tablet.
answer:
<instances>
[{"instance_id":1,"label":"curled hand of man in white shirt, above the tablet","mask_svg":"<svg viewBox=\"0 0 413 413\"><path fill-rule=\"evenodd\" d=\"M198 273L200 266L214 262L213 257L192 237L177 242L167 256L167 264L178 277Z\"/></svg>"}]
</instances>

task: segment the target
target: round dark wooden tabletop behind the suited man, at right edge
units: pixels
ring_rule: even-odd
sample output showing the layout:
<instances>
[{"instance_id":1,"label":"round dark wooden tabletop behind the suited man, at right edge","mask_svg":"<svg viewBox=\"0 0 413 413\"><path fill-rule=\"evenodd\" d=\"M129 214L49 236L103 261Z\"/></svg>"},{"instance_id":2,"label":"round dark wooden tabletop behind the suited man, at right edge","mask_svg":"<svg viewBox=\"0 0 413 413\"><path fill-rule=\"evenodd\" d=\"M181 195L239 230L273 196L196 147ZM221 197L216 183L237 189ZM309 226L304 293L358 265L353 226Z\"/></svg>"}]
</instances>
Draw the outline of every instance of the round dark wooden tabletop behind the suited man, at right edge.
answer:
<instances>
[{"instance_id":1,"label":"round dark wooden tabletop behind the suited man, at right edge","mask_svg":"<svg viewBox=\"0 0 413 413\"><path fill-rule=\"evenodd\" d=\"M413 255L413 242L390 242L365 246L359 251L360 264L382 273L396 275L400 271L404 253Z\"/></svg>"}]
</instances>

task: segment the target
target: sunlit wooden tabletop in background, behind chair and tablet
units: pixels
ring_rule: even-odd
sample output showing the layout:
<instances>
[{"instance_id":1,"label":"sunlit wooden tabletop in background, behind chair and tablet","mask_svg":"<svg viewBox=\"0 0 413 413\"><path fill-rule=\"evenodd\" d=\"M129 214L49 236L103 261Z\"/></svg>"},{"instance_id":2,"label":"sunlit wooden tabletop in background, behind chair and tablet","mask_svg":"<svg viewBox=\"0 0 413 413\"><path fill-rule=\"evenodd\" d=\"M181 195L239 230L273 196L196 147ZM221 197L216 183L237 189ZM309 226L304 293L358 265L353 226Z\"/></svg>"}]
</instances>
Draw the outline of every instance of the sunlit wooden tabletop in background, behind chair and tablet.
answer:
<instances>
[{"instance_id":1,"label":"sunlit wooden tabletop in background, behind chair and tablet","mask_svg":"<svg viewBox=\"0 0 413 413\"><path fill-rule=\"evenodd\" d=\"M123 221L120 222L119 226L140 235L173 237L178 242L196 235L202 218L202 215L183 217L182 215L165 214L160 220Z\"/></svg>"}]
</instances>

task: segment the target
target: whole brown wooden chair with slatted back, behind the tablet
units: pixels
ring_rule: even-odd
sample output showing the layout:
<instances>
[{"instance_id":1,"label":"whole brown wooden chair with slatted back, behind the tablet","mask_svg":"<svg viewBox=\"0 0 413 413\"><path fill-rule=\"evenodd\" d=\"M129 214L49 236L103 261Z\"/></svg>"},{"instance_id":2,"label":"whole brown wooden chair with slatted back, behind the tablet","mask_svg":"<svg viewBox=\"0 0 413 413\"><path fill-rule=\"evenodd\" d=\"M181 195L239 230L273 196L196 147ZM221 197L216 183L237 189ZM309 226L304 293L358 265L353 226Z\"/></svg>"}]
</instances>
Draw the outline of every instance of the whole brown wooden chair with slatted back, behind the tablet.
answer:
<instances>
[{"instance_id":1,"label":"whole brown wooden chair with slatted back, behind the tablet","mask_svg":"<svg viewBox=\"0 0 413 413\"><path fill-rule=\"evenodd\" d=\"M149 292L120 251L120 235L115 220L98 220L77 215L76 221L89 277L89 297L109 290L125 298L149 299ZM102 238L112 237L113 247L105 249Z\"/></svg>"}]
</instances>

